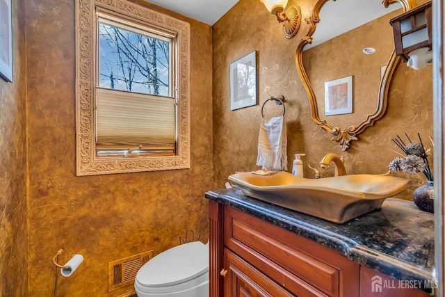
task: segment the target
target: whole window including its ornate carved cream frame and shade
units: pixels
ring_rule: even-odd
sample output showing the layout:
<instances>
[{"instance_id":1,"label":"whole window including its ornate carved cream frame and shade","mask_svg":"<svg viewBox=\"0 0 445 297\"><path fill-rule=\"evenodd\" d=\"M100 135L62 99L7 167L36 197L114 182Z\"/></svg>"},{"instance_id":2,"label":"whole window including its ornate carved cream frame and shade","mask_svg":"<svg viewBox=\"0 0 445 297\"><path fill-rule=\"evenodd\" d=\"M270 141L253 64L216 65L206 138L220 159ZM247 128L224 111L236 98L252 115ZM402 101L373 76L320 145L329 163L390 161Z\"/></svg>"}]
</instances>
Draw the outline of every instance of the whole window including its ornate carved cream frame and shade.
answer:
<instances>
[{"instance_id":1,"label":"whole window including its ornate carved cream frame and shade","mask_svg":"<svg viewBox=\"0 0 445 297\"><path fill-rule=\"evenodd\" d=\"M90 1L76 6L77 175L189 168L189 24Z\"/></svg>"}]
</instances>

